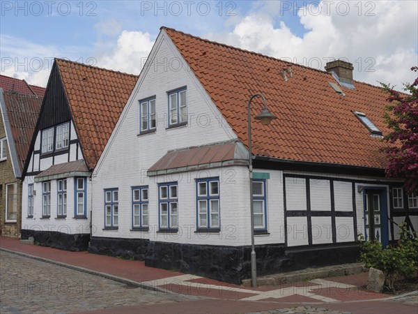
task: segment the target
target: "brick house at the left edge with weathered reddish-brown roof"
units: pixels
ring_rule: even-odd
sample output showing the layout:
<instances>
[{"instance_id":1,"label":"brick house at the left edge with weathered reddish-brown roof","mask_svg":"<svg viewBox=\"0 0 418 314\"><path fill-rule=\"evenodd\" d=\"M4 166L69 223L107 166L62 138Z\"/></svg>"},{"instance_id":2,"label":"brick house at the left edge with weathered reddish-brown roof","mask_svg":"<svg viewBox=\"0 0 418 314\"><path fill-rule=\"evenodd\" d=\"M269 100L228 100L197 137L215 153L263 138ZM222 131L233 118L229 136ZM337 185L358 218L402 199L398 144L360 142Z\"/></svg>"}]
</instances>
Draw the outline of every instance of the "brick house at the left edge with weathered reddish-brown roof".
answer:
<instances>
[{"instance_id":1,"label":"brick house at the left edge with weathered reddish-brown roof","mask_svg":"<svg viewBox=\"0 0 418 314\"><path fill-rule=\"evenodd\" d=\"M0 234L19 237L22 171L45 89L0 75Z\"/></svg>"}]
</instances>

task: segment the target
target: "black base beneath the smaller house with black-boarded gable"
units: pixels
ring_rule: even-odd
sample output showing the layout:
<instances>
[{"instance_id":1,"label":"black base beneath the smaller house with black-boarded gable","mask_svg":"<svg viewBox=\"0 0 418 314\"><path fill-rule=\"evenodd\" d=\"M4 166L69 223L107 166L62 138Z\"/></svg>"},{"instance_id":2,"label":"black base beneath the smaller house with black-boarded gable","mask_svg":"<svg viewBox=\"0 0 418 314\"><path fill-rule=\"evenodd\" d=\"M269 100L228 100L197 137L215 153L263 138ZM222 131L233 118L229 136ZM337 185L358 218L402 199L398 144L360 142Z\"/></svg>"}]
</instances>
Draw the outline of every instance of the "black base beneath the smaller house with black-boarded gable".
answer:
<instances>
[{"instance_id":1,"label":"black base beneath the smaller house with black-boarded gable","mask_svg":"<svg viewBox=\"0 0 418 314\"><path fill-rule=\"evenodd\" d=\"M56 231L22 229L22 239L33 237L35 244L50 246L65 251L86 251L90 234L67 234Z\"/></svg>"}]
</instances>

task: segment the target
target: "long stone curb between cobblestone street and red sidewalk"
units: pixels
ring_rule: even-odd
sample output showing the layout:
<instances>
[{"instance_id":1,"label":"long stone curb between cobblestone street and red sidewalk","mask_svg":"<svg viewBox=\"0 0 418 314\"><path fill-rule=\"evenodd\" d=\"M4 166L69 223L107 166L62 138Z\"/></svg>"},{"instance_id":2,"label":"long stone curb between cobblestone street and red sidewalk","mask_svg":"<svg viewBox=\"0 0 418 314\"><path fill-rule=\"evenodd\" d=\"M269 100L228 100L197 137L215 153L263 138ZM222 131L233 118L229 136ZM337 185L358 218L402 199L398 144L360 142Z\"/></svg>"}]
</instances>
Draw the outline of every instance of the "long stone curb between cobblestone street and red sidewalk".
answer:
<instances>
[{"instance_id":1,"label":"long stone curb between cobblestone street and red sidewalk","mask_svg":"<svg viewBox=\"0 0 418 314\"><path fill-rule=\"evenodd\" d=\"M174 292L172 292L170 290L167 290L167 289L163 289L163 288L160 288L160 287L154 287L153 285L147 285L147 284L144 284L144 283L139 283L137 281L131 281L130 279L127 279L127 278L102 273L100 271L94 271L94 270L87 269L87 268L84 268L84 267L65 264L63 262L56 262L54 260L48 260L47 258L39 257L39 256L36 256L36 255L30 255L30 254L26 254L26 253L22 253L22 252L12 251L12 250L8 250L7 248L0 248L0 251L15 254L15 255L20 255L20 256L23 256L23 257L31 258L33 260L39 260L41 262L46 262L46 263L49 263L49 264L54 264L56 266L66 267L68 269L73 269L73 270L76 270L76 271L82 271L86 274L91 274L91 275L94 275L94 276L100 276L100 277L103 277L103 278L110 279L111 281L117 281L119 283L124 283L125 285L133 285L135 287L141 287L141 288L146 289L146 290L153 290L153 291L164 292L164 293L168 293L168 294L177 294L177 293L174 293ZM182 295L182 294L180 294L180 295Z\"/></svg>"}]
</instances>

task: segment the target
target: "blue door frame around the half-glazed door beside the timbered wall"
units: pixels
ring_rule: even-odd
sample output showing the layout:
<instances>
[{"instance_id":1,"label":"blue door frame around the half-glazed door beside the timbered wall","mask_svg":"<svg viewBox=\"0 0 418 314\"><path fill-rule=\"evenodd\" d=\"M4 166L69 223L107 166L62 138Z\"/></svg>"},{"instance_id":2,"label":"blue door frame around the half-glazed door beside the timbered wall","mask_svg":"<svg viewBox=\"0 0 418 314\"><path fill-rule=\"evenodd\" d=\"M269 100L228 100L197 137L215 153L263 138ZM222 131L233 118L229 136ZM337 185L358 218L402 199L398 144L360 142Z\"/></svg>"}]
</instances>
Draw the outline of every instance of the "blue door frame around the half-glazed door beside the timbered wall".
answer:
<instances>
[{"instance_id":1,"label":"blue door frame around the half-glazed door beside the timbered wall","mask_svg":"<svg viewBox=\"0 0 418 314\"><path fill-rule=\"evenodd\" d=\"M363 190L363 223L364 223L364 239L367 241L367 227L366 227L366 192L376 190L379 191L380 201L380 234L382 245L385 248L389 244L389 230L388 230L388 206L387 206L387 188L383 186L364 186ZM370 222L369 222L370 223Z\"/></svg>"}]
</instances>

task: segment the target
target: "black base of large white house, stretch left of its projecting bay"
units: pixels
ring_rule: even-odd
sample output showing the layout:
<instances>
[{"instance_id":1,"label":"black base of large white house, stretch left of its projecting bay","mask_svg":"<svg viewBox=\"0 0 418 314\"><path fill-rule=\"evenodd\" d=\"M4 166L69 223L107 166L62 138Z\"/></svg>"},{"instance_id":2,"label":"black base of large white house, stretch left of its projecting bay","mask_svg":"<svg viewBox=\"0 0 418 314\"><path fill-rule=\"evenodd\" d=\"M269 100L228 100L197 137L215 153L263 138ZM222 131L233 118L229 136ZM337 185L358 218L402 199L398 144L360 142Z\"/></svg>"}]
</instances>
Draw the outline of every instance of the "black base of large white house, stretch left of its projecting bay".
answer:
<instances>
[{"instance_id":1,"label":"black base of large white house, stretch left of its projecting bay","mask_svg":"<svg viewBox=\"0 0 418 314\"><path fill-rule=\"evenodd\" d=\"M89 253L122 257L126 260L144 260L148 250L148 239L120 239L92 237Z\"/></svg>"}]
</instances>

